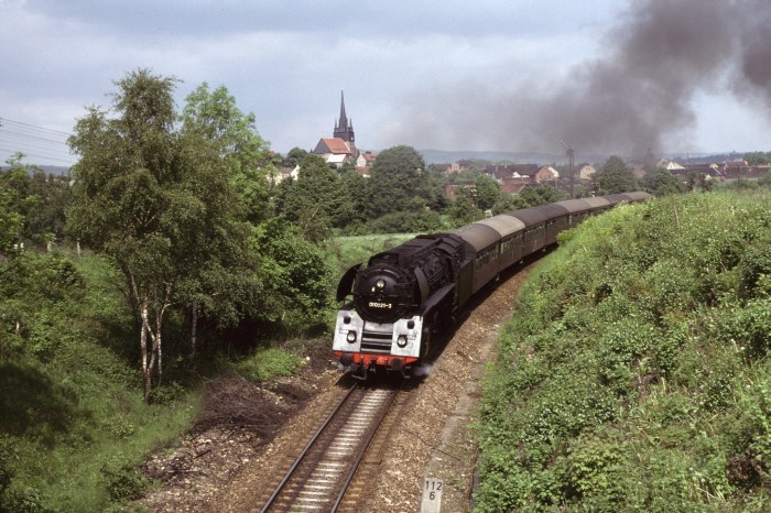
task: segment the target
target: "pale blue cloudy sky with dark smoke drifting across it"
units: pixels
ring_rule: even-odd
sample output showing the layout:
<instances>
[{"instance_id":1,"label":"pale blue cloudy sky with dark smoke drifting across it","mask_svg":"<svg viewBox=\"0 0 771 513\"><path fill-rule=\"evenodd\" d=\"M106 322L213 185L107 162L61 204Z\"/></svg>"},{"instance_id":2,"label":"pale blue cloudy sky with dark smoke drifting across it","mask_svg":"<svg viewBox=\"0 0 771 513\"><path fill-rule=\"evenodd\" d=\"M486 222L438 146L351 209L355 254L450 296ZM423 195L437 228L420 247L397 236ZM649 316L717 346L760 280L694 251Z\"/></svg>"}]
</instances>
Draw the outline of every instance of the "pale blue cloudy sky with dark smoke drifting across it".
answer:
<instances>
[{"instance_id":1,"label":"pale blue cloudy sky with dark smoke drifting across it","mask_svg":"<svg viewBox=\"0 0 771 513\"><path fill-rule=\"evenodd\" d=\"M771 151L771 0L0 0L0 162L146 68L225 86L279 153Z\"/></svg>"}]
</instances>

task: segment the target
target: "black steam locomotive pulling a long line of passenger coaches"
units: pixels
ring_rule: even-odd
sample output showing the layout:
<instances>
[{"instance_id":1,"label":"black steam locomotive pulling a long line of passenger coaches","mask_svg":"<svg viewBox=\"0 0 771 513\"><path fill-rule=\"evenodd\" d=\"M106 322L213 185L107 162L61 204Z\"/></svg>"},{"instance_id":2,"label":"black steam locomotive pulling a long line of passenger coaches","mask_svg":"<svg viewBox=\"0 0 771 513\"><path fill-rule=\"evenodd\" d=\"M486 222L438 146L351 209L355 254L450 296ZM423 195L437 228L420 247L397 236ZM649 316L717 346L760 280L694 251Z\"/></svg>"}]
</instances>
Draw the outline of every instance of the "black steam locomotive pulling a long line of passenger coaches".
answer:
<instances>
[{"instance_id":1,"label":"black steam locomotive pulling a long line of passenger coaches","mask_svg":"<svg viewBox=\"0 0 771 513\"><path fill-rule=\"evenodd\" d=\"M351 266L337 286L333 352L354 378L425 373L432 340L502 272L544 251L557 234L623 203L613 194L508 211L455 230L421 234Z\"/></svg>"}]
</instances>

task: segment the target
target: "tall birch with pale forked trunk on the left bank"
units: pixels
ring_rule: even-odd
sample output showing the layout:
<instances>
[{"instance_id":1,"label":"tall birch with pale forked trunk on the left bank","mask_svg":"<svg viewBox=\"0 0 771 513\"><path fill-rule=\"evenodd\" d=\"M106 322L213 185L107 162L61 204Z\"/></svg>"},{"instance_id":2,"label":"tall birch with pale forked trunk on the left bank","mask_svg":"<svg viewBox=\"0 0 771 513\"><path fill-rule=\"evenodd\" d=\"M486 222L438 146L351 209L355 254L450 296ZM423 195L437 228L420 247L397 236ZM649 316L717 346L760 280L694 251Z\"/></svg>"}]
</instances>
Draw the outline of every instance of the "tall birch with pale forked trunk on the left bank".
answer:
<instances>
[{"instance_id":1,"label":"tall birch with pale forked trunk on the left bank","mask_svg":"<svg viewBox=\"0 0 771 513\"><path fill-rule=\"evenodd\" d=\"M153 375L163 379L163 321L177 287L194 287L203 269L225 265L246 239L221 146L199 130L174 128L176 81L146 69L127 74L116 81L116 117L89 108L69 139L80 160L68 229L111 256L126 279L146 402Z\"/></svg>"}]
</instances>

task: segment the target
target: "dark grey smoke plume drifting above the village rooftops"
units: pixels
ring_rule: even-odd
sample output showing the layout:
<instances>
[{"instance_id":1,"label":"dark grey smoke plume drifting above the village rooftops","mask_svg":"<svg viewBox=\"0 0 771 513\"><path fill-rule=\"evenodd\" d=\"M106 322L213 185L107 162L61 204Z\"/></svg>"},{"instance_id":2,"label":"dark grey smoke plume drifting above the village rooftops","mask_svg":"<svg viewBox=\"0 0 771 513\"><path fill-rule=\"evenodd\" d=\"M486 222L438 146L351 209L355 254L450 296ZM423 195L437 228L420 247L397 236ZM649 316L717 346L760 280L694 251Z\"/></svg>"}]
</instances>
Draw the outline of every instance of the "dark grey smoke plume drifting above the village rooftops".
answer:
<instances>
[{"instance_id":1,"label":"dark grey smoke plume drifting above the village rooftops","mask_svg":"<svg viewBox=\"0 0 771 513\"><path fill-rule=\"evenodd\" d=\"M643 0L601 57L550 76L436 86L399 127L423 148L643 155L687 143L697 92L730 91L771 120L771 0ZM492 74L491 74L492 75ZM431 134L427 140L426 134Z\"/></svg>"}]
</instances>

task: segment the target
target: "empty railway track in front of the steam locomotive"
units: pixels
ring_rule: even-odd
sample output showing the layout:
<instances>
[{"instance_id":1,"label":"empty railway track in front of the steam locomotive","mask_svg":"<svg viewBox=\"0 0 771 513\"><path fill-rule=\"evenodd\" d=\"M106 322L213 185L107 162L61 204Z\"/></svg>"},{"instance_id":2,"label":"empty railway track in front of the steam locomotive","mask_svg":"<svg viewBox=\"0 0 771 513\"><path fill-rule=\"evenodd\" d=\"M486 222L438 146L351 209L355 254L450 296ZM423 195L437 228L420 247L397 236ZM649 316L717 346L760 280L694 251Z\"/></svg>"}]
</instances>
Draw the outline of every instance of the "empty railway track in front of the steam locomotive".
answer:
<instances>
[{"instance_id":1,"label":"empty railway track in front of the steam locomotive","mask_svg":"<svg viewBox=\"0 0 771 513\"><path fill-rule=\"evenodd\" d=\"M354 384L297 455L271 495L263 499L264 506L260 511L338 511L399 393L398 386ZM380 433L382 438L384 435ZM356 481L358 488L362 485L361 479Z\"/></svg>"}]
</instances>

